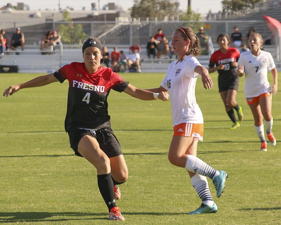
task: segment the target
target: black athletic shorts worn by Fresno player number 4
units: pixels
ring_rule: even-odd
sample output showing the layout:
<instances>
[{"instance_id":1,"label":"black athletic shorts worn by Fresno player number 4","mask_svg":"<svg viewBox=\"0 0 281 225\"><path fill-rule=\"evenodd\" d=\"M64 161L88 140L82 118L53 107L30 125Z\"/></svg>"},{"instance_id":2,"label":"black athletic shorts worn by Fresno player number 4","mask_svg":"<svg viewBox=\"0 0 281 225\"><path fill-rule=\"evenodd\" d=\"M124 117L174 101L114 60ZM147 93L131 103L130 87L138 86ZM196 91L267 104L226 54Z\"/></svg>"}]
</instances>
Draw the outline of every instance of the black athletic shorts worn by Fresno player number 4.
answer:
<instances>
[{"instance_id":1,"label":"black athletic shorts worn by Fresno player number 4","mask_svg":"<svg viewBox=\"0 0 281 225\"><path fill-rule=\"evenodd\" d=\"M83 157L78 152L78 144L84 135L94 137L98 141L101 150L109 158L120 156L123 154L121 151L120 143L110 127L95 130L95 132L93 133L90 130L71 128L70 130L68 130L69 142L70 147L73 149L76 156Z\"/></svg>"}]
</instances>

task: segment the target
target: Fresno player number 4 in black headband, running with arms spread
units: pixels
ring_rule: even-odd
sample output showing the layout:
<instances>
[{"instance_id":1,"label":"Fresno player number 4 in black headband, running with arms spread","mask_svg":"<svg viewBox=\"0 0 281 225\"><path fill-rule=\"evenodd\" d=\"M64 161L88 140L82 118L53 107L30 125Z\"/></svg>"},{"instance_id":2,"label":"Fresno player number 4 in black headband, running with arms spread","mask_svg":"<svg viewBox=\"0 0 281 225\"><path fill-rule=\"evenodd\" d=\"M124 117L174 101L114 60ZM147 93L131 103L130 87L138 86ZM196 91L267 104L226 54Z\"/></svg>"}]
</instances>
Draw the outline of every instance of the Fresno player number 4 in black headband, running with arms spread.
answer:
<instances>
[{"instance_id":1,"label":"Fresno player number 4 in black headband, running with arms spread","mask_svg":"<svg viewBox=\"0 0 281 225\"><path fill-rule=\"evenodd\" d=\"M36 77L7 88L8 97L23 88L39 87L68 80L65 131L77 156L84 157L97 170L97 183L109 210L109 219L124 220L115 200L120 199L117 184L128 179L121 146L114 135L107 98L111 89L141 100L168 100L166 92L153 93L129 84L111 68L101 66L102 46L97 38L87 38L82 47L83 63L73 62L52 74ZM83 192L83 190L77 190Z\"/></svg>"}]
</instances>

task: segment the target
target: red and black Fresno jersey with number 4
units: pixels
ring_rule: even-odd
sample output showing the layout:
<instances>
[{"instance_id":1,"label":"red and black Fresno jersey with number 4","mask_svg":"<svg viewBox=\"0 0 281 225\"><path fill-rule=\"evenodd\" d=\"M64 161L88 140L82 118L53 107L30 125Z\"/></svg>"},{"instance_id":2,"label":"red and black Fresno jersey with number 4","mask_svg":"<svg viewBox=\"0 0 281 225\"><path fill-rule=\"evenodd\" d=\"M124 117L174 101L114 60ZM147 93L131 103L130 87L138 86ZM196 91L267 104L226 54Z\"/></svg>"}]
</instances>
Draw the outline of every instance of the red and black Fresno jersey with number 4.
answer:
<instances>
[{"instance_id":1,"label":"red and black Fresno jersey with number 4","mask_svg":"<svg viewBox=\"0 0 281 225\"><path fill-rule=\"evenodd\" d=\"M70 128L101 129L111 127L107 96L111 89L122 92L129 85L110 68L99 67L90 74L85 63L73 62L54 73L62 83L68 80L65 131Z\"/></svg>"}]
</instances>

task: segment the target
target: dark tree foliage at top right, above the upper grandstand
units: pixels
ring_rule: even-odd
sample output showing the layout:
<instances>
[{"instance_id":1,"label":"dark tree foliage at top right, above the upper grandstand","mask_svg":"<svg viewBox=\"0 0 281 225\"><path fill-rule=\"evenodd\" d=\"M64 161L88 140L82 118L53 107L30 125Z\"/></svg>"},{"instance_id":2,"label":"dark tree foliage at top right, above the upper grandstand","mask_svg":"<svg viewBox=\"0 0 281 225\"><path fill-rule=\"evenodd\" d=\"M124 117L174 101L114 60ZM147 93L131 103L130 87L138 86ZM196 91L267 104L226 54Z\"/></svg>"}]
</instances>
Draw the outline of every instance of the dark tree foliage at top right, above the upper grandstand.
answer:
<instances>
[{"instance_id":1,"label":"dark tree foliage at top right, above the upper grandstand","mask_svg":"<svg viewBox=\"0 0 281 225\"><path fill-rule=\"evenodd\" d=\"M256 3L262 2L262 0L223 0L223 11L239 11L242 9L254 8Z\"/></svg>"}]
</instances>

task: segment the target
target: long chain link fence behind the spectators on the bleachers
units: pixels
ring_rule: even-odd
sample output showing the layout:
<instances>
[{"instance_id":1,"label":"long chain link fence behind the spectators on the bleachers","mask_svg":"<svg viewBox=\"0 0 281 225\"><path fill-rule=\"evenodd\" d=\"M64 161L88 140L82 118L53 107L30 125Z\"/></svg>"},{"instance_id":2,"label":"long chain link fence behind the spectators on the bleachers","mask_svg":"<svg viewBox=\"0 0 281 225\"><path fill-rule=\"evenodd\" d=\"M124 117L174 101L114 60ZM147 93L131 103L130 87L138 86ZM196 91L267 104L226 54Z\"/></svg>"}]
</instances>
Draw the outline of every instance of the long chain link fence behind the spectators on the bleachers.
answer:
<instances>
[{"instance_id":1,"label":"long chain link fence behind the spectators on the bleachers","mask_svg":"<svg viewBox=\"0 0 281 225\"><path fill-rule=\"evenodd\" d=\"M264 40L270 39L271 43L274 42L272 34L267 28L263 20L247 20L247 21L199 21L199 22L188 22L188 21L149 21L149 22L89 22L89 21L72 21L72 22L46 22L46 23L20 23L20 22L0 22L0 28L5 27L6 33L9 39L15 32L16 27L21 28L21 32L24 33L25 43L27 45L38 45L38 42L42 39L44 34L48 30L57 30L60 34L60 26L76 26L77 24L82 25L83 32L86 36L100 38L104 45L146 45L150 36L154 36L157 30L161 28L163 33L169 40L172 33L176 28L181 26L190 26L194 29L195 33L198 32L198 28L203 26L205 33L209 35L215 43L217 37L221 33L226 33L229 36L233 33L234 26L239 28L239 32L243 35L245 41L246 35L249 32L249 28L253 27L256 32L260 33ZM63 36L62 36L63 42ZM270 41L268 41L270 43ZM65 43L64 43L65 44ZM71 45L78 45L75 38L73 41L67 43Z\"/></svg>"}]
</instances>

